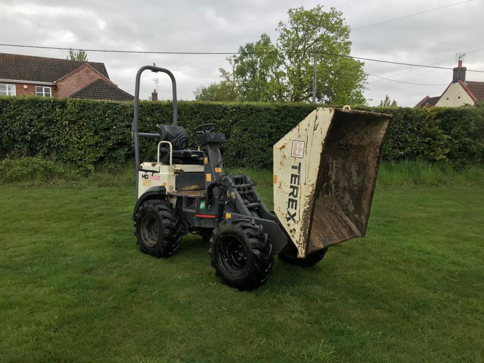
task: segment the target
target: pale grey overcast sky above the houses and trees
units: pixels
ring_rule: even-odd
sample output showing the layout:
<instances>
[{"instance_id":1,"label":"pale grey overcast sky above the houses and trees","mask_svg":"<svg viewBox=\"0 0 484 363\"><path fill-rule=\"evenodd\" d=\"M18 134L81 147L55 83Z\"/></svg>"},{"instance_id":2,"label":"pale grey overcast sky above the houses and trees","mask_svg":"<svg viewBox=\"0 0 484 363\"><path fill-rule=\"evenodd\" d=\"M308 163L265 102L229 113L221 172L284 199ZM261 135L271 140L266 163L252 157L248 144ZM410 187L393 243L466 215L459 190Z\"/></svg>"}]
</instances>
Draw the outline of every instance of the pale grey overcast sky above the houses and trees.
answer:
<instances>
[{"instance_id":1,"label":"pale grey overcast sky above the houses and trees","mask_svg":"<svg viewBox=\"0 0 484 363\"><path fill-rule=\"evenodd\" d=\"M143 51L237 51L267 32L273 42L277 23L287 21L287 9L317 4L343 12L347 24L359 28L463 0L244 0L244 1L125 1L125 0L0 0L0 43L84 49ZM70 3L72 5L70 5ZM483 0L435 10L351 32L351 54L387 61L454 67L456 52L484 48ZM0 46L0 52L65 58L64 50ZM173 71L180 99L194 98L200 85L219 80L223 55L148 55L88 52L89 61L104 62L113 82L134 94L136 70L145 64ZM206 64L209 63L209 64ZM203 65L202 65L203 64ZM468 69L484 70L484 49L464 59ZM189 68L190 67L190 68ZM366 61L364 70L381 77L415 67ZM141 98L148 98L155 75L142 79ZM166 75L160 78L159 97L171 99ZM448 84L451 70L424 68L393 78L423 84ZM484 73L468 72L468 80L484 81ZM414 106L425 95L438 96L446 86L418 86L368 77L365 96L370 105L388 94L399 105Z\"/></svg>"}]
</instances>

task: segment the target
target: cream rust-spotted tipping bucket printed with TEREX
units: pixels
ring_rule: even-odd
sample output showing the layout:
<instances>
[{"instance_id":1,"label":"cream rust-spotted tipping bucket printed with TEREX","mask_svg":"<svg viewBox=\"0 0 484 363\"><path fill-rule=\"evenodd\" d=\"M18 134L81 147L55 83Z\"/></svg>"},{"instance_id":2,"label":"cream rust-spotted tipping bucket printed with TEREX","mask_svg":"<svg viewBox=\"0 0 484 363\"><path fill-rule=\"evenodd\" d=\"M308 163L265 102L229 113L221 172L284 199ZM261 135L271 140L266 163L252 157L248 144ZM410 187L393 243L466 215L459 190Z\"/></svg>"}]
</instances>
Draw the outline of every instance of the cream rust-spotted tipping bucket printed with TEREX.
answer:
<instances>
[{"instance_id":1,"label":"cream rust-spotted tipping bucket printed with TEREX","mask_svg":"<svg viewBox=\"0 0 484 363\"><path fill-rule=\"evenodd\" d=\"M365 235L391 117L317 108L274 145L274 212L298 257Z\"/></svg>"}]
</instances>

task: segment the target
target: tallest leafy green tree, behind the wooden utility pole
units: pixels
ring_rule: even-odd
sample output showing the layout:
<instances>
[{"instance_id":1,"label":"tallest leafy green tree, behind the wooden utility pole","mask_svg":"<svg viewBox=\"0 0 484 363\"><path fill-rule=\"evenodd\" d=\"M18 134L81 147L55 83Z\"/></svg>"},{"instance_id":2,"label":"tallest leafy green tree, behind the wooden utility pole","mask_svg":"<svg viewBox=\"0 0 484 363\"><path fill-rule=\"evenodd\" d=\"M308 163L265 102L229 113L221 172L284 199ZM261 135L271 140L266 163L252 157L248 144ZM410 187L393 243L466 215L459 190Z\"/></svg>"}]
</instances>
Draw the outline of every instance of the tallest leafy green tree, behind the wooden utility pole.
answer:
<instances>
[{"instance_id":1,"label":"tallest leafy green tree, behind the wooden utility pole","mask_svg":"<svg viewBox=\"0 0 484 363\"><path fill-rule=\"evenodd\" d=\"M321 103L364 103L366 75L363 63L348 56L351 51L350 29L343 13L318 5L313 9L289 9L289 21L279 22L278 50L287 52L284 63L288 101L312 98L313 51L318 48L316 98Z\"/></svg>"}]
</instances>

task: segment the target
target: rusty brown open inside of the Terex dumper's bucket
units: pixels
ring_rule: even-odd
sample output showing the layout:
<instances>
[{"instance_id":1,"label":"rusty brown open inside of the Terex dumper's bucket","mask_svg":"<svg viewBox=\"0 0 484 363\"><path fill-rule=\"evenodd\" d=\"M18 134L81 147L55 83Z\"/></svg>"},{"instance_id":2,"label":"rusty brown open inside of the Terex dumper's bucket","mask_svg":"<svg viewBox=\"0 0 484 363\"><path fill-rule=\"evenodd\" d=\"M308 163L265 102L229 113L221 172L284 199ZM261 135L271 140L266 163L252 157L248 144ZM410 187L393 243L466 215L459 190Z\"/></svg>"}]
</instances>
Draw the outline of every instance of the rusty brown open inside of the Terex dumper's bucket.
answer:
<instances>
[{"instance_id":1,"label":"rusty brown open inside of the Terex dumper's bucket","mask_svg":"<svg viewBox=\"0 0 484 363\"><path fill-rule=\"evenodd\" d=\"M307 253L365 235L390 117L334 109L321 153Z\"/></svg>"}]
</instances>

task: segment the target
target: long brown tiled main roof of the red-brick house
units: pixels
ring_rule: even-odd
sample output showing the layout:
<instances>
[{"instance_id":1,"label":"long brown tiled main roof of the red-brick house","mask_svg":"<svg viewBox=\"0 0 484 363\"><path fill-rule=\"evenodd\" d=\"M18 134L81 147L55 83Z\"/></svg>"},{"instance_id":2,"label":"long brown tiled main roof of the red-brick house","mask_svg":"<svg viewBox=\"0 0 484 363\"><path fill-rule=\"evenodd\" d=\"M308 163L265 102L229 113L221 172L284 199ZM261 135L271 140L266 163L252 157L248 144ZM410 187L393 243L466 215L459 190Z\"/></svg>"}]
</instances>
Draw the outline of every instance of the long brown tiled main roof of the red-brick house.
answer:
<instances>
[{"instance_id":1,"label":"long brown tiled main roof of the red-brick house","mask_svg":"<svg viewBox=\"0 0 484 363\"><path fill-rule=\"evenodd\" d=\"M109 79L104 63L0 53L0 79L54 82L88 63Z\"/></svg>"}]
</instances>

